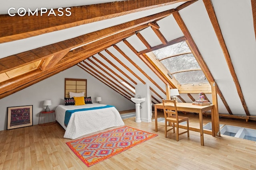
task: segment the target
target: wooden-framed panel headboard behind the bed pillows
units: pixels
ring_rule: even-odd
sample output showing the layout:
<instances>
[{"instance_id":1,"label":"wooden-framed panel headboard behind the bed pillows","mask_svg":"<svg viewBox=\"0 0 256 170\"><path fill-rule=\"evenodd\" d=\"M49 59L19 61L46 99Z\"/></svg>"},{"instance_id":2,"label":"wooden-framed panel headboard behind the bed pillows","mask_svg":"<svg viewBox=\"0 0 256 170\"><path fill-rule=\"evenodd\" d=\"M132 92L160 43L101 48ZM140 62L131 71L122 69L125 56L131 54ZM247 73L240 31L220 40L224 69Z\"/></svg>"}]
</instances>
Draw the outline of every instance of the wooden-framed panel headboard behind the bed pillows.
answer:
<instances>
[{"instance_id":1,"label":"wooden-framed panel headboard behind the bed pillows","mask_svg":"<svg viewBox=\"0 0 256 170\"><path fill-rule=\"evenodd\" d=\"M86 79L65 78L65 98L69 98L69 92L84 92L84 97L86 97L86 88Z\"/></svg>"}]
</instances>

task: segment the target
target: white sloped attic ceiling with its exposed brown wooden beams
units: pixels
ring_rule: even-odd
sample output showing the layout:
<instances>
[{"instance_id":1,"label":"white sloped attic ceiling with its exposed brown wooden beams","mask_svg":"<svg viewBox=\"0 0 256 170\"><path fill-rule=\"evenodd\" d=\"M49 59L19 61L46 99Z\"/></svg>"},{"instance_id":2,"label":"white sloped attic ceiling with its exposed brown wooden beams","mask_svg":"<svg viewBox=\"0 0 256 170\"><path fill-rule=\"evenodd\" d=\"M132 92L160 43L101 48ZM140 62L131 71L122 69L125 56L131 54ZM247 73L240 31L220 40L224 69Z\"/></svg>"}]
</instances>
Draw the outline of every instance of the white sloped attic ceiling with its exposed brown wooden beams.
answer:
<instances>
[{"instance_id":1,"label":"white sloped attic ceiling with its exposed brown wooden beams","mask_svg":"<svg viewBox=\"0 0 256 170\"><path fill-rule=\"evenodd\" d=\"M254 0L4 3L0 98L77 65L127 99L135 94L122 82L132 87L150 84L155 104L166 98L166 84L179 88L180 102L192 102L199 91L212 102L210 84L193 88L178 84L149 53L186 41L207 80L215 82L219 112L256 115ZM6 13L10 7L72 7L72 15L10 17Z\"/></svg>"}]
</instances>

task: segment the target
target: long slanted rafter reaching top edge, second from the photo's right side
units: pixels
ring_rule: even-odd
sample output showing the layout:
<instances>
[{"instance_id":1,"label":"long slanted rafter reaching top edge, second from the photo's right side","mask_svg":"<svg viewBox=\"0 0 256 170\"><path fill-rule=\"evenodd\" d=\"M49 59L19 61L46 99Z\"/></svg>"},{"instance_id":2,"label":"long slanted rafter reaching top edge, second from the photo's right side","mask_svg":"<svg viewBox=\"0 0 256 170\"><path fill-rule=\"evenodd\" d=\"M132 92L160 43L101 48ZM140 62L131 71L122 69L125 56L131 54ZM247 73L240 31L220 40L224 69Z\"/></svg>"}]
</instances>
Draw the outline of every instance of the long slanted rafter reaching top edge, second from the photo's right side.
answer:
<instances>
[{"instance_id":1,"label":"long slanted rafter reaching top edge, second from the photo's right side","mask_svg":"<svg viewBox=\"0 0 256 170\"><path fill-rule=\"evenodd\" d=\"M221 32L221 29L220 29L220 25L218 23L218 19L216 17L216 14L214 12L214 8L212 6L212 2L211 2L211 0L203 0L203 2L204 2L204 6L206 7L206 11L207 11L208 16L210 18L212 26L214 28L214 31L216 33L216 36L218 38L218 41L220 43L220 47L222 48L224 57L226 59L226 62L228 64L228 68L230 70L230 74L231 74L231 76L232 76L232 78L234 80L234 83L235 83L235 86L236 86L236 90L238 92L238 96L239 96L239 98L240 98L240 100L242 102L242 106L244 107L244 111L245 111L246 115L250 116L248 107L247 107L246 102L244 100L244 95L242 93L242 89L240 87L240 83L239 83L238 77L236 76L236 72L235 72L234 66L232 64L229 52L228 52L228 48L226 46L224 37L222 36L222 32Z\"/></svg>"}]
</instances>

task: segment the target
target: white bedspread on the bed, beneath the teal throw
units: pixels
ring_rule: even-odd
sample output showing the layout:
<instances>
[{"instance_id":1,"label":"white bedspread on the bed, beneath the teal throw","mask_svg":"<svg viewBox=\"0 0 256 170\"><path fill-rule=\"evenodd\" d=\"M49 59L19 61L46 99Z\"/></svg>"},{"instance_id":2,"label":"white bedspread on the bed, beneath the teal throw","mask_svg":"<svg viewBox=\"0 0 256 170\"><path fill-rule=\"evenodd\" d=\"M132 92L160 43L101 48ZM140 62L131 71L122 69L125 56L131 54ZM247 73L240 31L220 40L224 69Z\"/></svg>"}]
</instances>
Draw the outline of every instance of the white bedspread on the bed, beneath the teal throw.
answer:
<instances>
[{"instance_id":1,"label":"white bedspread on the bed, beneath the teal throw","mask_svg":"<svg viewBox=\"0 0 256 170\"><path fill-rule=\"evenodd\" d=\"M68 126L65 127L64 119L66 110L82 109L89 107L106 106L104 104L86 104L82 106L64 106L59 105L56 112L56 121L62 125L66 132L64 138L76 139L83 135L101 131L110 127L122 126L124 122L120 113L115 107L108 107L104 109L94 109L88 111L74 112L69 120Z\"/></svg>"}]
</instances>

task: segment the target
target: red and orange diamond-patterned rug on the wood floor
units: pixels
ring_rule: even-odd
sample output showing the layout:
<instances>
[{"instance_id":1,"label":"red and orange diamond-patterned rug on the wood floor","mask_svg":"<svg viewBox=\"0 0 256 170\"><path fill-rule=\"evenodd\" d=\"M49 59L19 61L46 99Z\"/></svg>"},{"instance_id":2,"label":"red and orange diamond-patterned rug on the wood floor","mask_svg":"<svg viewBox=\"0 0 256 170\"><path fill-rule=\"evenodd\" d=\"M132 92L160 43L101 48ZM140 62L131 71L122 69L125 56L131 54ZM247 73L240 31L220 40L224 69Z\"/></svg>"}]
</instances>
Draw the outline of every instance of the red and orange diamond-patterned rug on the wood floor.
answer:
<instances>
[{"instance_id":1,"label":"red and orange diamond-patterned rug on the wood floor","mask_svg":"<svg viewBox=\"0 0 256 170\"><path fill-rule=\"evenodd\" d=\"M123 126L66 144L89 167L156 136Z\"/></svg>"}]
</instances>

